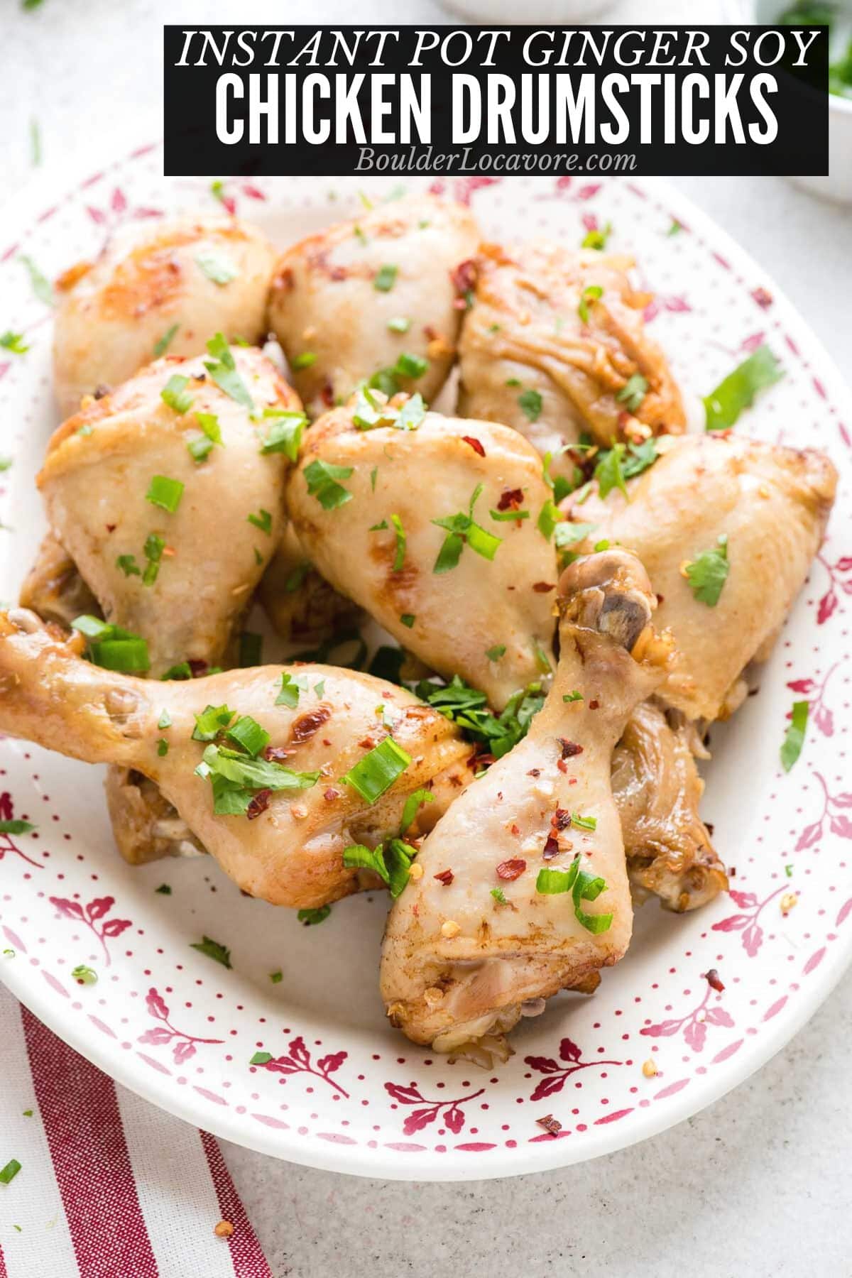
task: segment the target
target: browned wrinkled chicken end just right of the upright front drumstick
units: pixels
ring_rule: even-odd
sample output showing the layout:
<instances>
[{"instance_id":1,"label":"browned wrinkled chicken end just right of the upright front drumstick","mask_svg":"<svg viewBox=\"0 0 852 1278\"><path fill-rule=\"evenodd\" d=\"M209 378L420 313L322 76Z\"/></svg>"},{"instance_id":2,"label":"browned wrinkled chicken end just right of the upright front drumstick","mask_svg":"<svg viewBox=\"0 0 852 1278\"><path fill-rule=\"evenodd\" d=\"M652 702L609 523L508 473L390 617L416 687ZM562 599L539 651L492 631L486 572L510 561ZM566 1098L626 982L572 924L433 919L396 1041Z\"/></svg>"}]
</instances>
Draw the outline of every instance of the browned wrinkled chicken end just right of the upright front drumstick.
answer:
<instances>
[{"instance_id":1,"label":"browned wrinkled chicken end just right of the upright front drumstick","mask_svg":"<svg viewBox=\"0 0 852 1278\"><path fill-rule=\"evenodd\" d=\"M704 794L686 726L654 700L637 705L612 757L612 792L634 897L678 914L706 905L728 875L699 817Z\"/></svg>"}]
</instances>

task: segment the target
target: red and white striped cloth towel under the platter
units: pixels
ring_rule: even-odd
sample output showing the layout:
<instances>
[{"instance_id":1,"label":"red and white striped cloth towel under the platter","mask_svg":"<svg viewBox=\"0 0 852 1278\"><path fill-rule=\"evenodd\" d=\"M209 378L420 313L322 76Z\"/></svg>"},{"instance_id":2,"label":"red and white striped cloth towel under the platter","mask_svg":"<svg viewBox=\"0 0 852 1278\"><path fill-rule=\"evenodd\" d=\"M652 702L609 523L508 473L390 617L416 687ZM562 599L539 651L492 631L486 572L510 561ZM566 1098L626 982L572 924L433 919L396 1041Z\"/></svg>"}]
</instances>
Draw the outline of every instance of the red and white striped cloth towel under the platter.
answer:
<instances>
[{"instance_id":1,"label":"red and white striped cloth towel under the platter","mask_svg":"<svg viewBox=\"0 0 852 1278\"><path fill-rule=\"evenodd\" d=\"M0 987L0 1168L10 1159L0 1278L273 1278L216 1140L118 1086Z\"/></svg>"}]
</instances>

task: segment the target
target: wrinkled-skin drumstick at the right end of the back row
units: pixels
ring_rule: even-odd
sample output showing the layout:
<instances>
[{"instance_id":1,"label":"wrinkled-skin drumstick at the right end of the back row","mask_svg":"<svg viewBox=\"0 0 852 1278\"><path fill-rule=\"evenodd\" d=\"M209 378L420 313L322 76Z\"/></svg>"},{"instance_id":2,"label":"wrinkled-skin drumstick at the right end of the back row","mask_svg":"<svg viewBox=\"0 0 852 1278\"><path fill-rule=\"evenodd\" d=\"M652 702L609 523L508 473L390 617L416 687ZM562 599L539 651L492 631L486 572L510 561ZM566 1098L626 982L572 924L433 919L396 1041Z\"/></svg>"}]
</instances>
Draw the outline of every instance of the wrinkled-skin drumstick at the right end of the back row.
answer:
<instances>
[{"instance_id":1,"label":"wrinkled-skin drumstick at the right end of the back row","mask_svg":"<svg viewBox=\"0 0 852 1278\"><path fill-rule=\"evenodd\" d=\"M571 469L559 449L582 431L604 446L683 431L681 395L645 334L649 299L631 286L630 266L630 258L595 249L484 244L459 345L462 417L513 426L539 452L553 454L554 474ZM589 288L603 293L584 299ZM617 395L635 373L648 391L631 413ZM540 395L540 412L529 391Z\"/></svg>"}]
</instances>

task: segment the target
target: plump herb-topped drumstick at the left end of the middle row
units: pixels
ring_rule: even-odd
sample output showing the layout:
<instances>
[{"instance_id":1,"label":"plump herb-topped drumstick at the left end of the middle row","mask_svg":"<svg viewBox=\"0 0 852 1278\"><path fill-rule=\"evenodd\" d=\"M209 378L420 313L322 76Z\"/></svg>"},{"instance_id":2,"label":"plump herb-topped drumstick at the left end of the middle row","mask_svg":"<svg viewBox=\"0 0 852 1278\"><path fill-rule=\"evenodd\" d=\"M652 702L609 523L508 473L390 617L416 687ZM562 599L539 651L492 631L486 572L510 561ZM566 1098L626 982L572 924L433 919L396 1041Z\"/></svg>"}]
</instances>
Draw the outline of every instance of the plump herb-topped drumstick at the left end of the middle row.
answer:
<instances>
[{"instance_id":1,"label":"plump herb-topped drumstick at the left end of the middle row","mask_svg":"<svg viewBox=\"0 0 852 1278\"><path fill-rule=\"evenodd\" d=\"M255 409L300 408L259 350L232 354ZM161 397L174 374L189 378L189 412ZM199 412L216 415L222 438L201 463L186 446L204 438ZM148 640L156 676L178 662L221 659L281 534L287 465L284 454L261 454L249 410L220 390L201 357L166 357L54 433L38 487L56 537L103 616ZM174 512L147 498L155 475L184 484ZM268 532L248 519L262 520L262 511ZM165 547L156 580L146 585L151 534ZM123 567L120 556L132 560Z\"/></svg>"}]
</instances>

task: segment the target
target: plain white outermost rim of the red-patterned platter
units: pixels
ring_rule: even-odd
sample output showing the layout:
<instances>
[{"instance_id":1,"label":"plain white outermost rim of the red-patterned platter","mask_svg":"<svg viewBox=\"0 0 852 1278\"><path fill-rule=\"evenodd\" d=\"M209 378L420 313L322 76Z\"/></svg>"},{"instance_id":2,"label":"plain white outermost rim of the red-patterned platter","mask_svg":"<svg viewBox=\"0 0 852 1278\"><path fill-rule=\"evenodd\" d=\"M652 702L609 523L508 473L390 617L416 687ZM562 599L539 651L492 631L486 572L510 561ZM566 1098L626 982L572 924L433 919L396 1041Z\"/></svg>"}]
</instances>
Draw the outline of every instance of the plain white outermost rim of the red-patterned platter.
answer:
<instances>
[{"instance_id":1,"label":"plain white outermost rim of the red-patterned platter","mask_svg":"<svg viewBox=\"0 0 852 1278\"><path fill-rule=\"evenodd\" d=\"M107 174L112 169L121 167L135 156L147 153L161 146L162 139L157 138L142 146L115 147L110 151L106 162L97 171ZM75 151L63 162L47 166L41 174L31 178L24 190L15 194L14 212L10 199L0 206L0 221L3 221L4 231L8 234L8 243L13 244L17 236L31 227L33 217L43 213L51 201L55 206L57 199L68 198L72 193L75 194L91 183L92 175L82 180L78 179L73 184L68 178L72 171L87 171L88 165L79 164L79 155ZM627 184L631 181L630 178L623 175L607 176L609 180L613 176L622 176L622 180ZM327 179L321 176L314 180L322 183ZM660 202L666 203L672 215L677 216L690 231L697 231L709 245L713 245L710 252L715 253L717 249L724 252L728 267L746 277L760 276L761 284L770 289L774 304L779 312L783 312L786 323L795 332L800 354L809 364L816 366L819 378L828 389L828 397L839 403L848 401L851 392L835 360L812 331L807 320L787 296L784 289L778 285L777 280L761 263L709 213L705 213L691 197L683 194L669 181L658 176L643 178L641 175L639 181L641 183L643 196L653 193ZM19 969L18 974L14 965L0 965L0 982L49 1029L106 1074L107 1077L174 1117L202 1127L217 1137L298 1166L373 1180L425 1182L484 1181L554 1171L561 1167L612 1154L639 1141L660 1135L676 1123L714 1104L728 1091L733 1090L733 1088L751 1077L777 1052L786 1047L835 988L841 976L852 965L852 933L847 933L846 941L843 935L838 935L837 939L839 943L832 947L830 958L829 953L826 953L826 961L820 964L820 973L815 974L818 979L809 982L807 993L797 1001L795 1011L777 1020L775 1025L765 1026L759 1043L755 1043L746 1057L741 1058L737 1054L736 1062L733 1058L726 1062L727 1068L717 1070L711 1075L708 1074L703 1077L699 1104L695 1103L696 1093L692 1089L678 1093L667 1098L669 1103L649 1107L644 1114L636 1114L631 1127L616 1125L612 1130L609 1127L598 1128L591 1149L588 1148L588 1141L582 1145L575 1145L571 1141L557 1140L543 1144L536 1143L535 1148L517 1145L513 1149L494 1150L492 1158L478 1162L473 1176L471 1172L474 1168L471 1163L466 1163L464 1159L452 1155L445 1160L436 1159L433 1150L424 1153L413 1151L404 1159L400 1159L399 1154L391 1157L388 1151L381 1148L368 1149L361 1144L323 1145L319 1141L308 1144L296 1132L276 1130L273 1134L261 1125L245 1123L241 1116L235 1112L224 1112L218 1107L211 1107L209 1112L203 1112L202 1098L195 1098L189 1090L183 1094L186 1097L186 1100L181 1103L181 1093L178 1090L166 1091L165 1082L161 1082L157 1076L146 1074L133 1065L125 1067L121 1053L114 1051L109 1040L93 1039L91 1035L87 1035L83 1024L78 1028L74 1017L63 1015L63 1003L51 1001L47 990L42 992L41 985L34 980L27 982L23 974L28 969ZM745 1068L743 1061L746 1062ZM574 1150L577 1150L576 1157Z\"/></svg>"}]
</instances>

